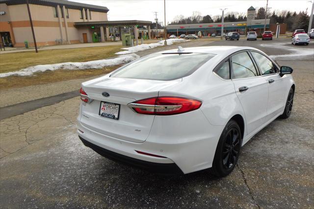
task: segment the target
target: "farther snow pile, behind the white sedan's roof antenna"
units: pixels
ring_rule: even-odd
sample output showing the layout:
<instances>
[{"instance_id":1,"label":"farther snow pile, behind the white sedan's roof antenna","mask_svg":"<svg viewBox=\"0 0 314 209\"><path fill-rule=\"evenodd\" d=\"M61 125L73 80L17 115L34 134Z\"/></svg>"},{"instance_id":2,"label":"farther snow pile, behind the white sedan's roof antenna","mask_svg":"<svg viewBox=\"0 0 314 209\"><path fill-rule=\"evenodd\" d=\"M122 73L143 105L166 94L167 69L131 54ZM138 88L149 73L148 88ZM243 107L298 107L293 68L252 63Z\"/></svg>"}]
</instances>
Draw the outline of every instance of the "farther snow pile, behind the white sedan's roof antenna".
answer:
<instances>
[{"instance_id":1,"label":"farther snow pile, behind the white sedan's roof antenna","mask_svg":"<svg viewBox=\"0 0 314 209\"><path fill-rule=\"evenodd\" d=\"M182 43L182 42L186 42L188 40L185 39L167 39L167 45L172 45L174 43ZM126 48L121 48L121 49L125 49L127 51L119 51L116 54L130 54L130 53L134 53L137 51L143 51L146 49L150 49L150 48L155 48L157 46L164 46L164 40L157 42L157 43L152 43L152 44L141 44L141 45L137 45L137 46L131 46L131 47L126 47Z\"/></svg>"}]
</instances>

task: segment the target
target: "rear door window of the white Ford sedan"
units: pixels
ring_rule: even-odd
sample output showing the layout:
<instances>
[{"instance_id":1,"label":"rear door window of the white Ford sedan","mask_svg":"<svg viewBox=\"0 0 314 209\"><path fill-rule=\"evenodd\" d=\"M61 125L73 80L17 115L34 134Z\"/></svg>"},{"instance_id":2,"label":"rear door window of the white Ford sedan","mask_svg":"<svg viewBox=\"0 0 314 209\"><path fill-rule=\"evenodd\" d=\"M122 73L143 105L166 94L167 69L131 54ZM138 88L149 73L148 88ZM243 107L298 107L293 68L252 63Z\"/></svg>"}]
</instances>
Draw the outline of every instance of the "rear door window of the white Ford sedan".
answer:
<instances>
[{"instance_id":1,"label":"rear door window of the white Ford sedan","mask_svg":"<svg viewBox=\"0 0 314 209\"><path fill-rule=\"evenodd\" d=\"M250 78L257 76L257 71L247 52L240 52L232 57L231 78Z\"/></svg>"}]
</instances>

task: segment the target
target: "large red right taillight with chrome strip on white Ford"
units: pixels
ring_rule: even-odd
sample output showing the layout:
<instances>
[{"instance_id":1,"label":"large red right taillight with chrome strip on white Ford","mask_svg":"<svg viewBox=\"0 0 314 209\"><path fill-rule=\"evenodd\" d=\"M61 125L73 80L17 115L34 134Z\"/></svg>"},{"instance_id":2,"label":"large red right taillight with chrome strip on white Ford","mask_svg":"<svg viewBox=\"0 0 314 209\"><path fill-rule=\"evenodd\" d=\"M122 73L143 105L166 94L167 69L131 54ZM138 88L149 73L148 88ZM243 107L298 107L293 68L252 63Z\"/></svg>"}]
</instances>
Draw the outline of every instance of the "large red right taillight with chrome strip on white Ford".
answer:
<instances>
[{"instance_id":1,"label":"large red right taillight with chrome strip on white Ford","mask_svg":"<svg viewBox=\"0 0 314 209\"><path fill-rule=\"evenodd\" d=\"M135 101L128 104L136 113L169 116L190 112L200 108L202 102L195 99L161 96Z\"/></svg>"}]
</instances>

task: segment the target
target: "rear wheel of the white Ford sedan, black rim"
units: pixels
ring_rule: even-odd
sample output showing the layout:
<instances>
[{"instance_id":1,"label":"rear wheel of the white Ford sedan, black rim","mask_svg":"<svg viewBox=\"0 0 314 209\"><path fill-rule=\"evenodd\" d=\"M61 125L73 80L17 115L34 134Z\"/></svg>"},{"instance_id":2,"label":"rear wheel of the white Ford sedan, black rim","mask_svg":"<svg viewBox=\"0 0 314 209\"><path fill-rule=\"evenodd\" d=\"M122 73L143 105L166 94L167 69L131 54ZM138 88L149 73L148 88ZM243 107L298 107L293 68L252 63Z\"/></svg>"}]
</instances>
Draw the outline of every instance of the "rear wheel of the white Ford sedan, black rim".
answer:
<instances>
[{"instance_id":1,"label":"rear wheel of the white Ford sedan, black rim","mask_svg":"<svg viewBox=\"0 0 314 209\"><path fill-rule=\"evenodd\" d=\"M229 175L240 155L241 131L235 120L230 120L225 126L219 138L212 167L211 174L217 177Z\"/></svg>"}]
</instances>

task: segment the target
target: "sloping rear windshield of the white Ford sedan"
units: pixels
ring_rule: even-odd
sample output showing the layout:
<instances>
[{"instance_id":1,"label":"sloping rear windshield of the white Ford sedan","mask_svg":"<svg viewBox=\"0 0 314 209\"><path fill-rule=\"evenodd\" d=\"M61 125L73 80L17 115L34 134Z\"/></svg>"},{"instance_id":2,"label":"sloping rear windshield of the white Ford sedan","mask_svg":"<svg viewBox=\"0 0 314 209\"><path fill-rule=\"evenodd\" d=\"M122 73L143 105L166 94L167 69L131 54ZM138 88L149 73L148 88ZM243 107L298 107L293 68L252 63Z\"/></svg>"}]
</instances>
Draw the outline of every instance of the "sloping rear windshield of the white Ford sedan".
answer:
<instances>
[{"instance_id":1,"label":"sloping rear windshield of the white Ford sedan","mask_svg":"<svg viewBox=\"0 0 314 209\"><path fill-rule=\"evenodd\" d=\"M110 77L175 80L192 74L215 54L153 54L114 72Z\"/></svg>"}]
</instances>

